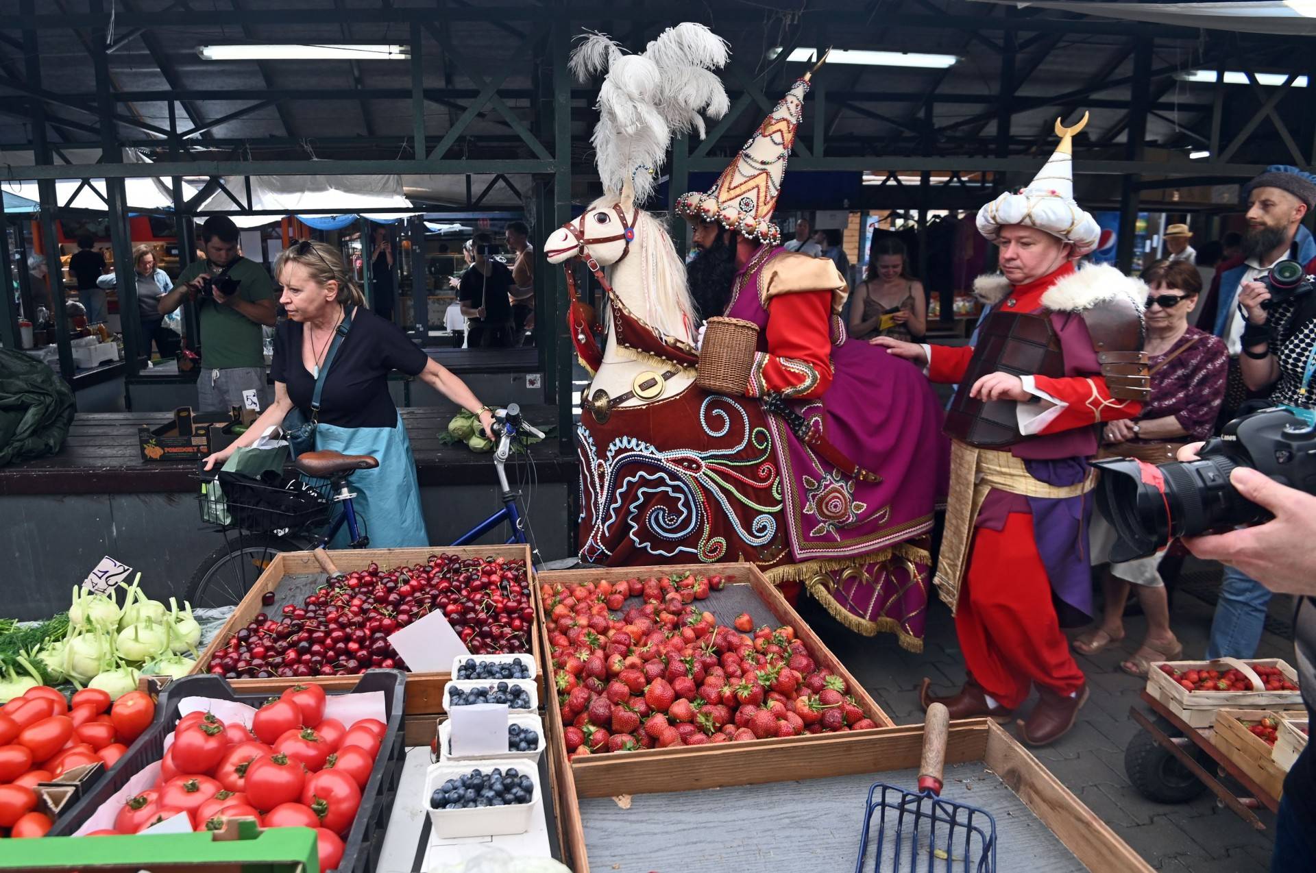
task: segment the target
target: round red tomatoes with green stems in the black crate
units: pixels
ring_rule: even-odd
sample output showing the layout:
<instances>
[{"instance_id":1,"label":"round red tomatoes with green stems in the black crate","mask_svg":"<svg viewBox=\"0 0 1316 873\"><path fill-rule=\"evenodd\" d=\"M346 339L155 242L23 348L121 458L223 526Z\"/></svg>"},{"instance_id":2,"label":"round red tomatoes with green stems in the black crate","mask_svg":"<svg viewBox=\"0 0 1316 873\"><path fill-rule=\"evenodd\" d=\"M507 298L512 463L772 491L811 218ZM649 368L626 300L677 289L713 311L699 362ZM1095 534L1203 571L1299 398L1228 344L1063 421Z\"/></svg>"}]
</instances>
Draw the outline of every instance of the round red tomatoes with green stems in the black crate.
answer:
<instances>
[{"instance_id":1,"label":"round red tomatoes with green stems in the black crate","mask_svg":"<svg viewBox=\"0 0 1316 873\"><path fill-rule=\"evenodd\" d=\"M261 827L315 828L320 869L332 870L386 731L378 719L343 726L325 718L318 685L284 690L257 710L250 730L190 713L174 728L155 785L120 809L112 830L88 836L138 834L180 814L195 831L250 818Z\"/></svg>"}]
</instances>

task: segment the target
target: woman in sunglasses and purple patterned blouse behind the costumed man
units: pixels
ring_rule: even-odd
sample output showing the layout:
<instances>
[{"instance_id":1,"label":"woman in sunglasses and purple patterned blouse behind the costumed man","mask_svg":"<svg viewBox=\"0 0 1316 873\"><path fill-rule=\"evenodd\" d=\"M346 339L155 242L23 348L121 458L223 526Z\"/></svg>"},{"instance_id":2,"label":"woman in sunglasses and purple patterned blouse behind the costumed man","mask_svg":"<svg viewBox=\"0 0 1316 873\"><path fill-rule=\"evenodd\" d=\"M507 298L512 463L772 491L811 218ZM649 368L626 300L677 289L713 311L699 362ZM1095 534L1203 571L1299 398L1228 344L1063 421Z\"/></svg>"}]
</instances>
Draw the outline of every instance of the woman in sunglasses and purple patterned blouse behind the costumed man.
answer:
<instances>
[{"instance_id":1,"label":"woman in sunglasses and purple patterned blouse behind the costumed man","mask_svg":"<svg viewBox=\"0 0 1316 873\"><path fill-rule=\"evenodd\" d=\"M1202 293L1202 276L1187 260L1158 260L1141 275L1148 284L1146 323L1148 369L1152 398L1142 414L1132 421L1104 426L1104 458L1138 458L1163 464L1175 451L1194 440L1211 436L1216 414L1224 401L1228 356L1219 338L1188 325L1188 313ZM1105 519L1094 519L1092 554L1101 559L1113 543ZM1161 577L1161 555L1112 564L1105 573L1105 609L1101 623L1074 640L1083 655L1095 655L1124 639L1124 603L1129 586L1136 585L1146 636L1132 657L1120 664L1130 676L1146 676L1150 661L1174 660L1183 646L1170 630L1170 606Z\"/></svg>"}]
</instances>

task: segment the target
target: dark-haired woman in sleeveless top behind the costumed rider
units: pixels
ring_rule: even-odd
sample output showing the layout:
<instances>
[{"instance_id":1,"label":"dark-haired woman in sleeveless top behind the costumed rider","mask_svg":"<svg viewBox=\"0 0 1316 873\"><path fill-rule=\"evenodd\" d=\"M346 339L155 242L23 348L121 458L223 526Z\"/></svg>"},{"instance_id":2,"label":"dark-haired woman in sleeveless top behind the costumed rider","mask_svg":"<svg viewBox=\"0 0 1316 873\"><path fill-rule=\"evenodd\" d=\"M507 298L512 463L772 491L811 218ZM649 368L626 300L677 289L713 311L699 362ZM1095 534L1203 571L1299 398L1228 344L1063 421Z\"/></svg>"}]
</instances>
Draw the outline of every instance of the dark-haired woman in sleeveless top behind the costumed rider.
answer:
<instances>
[{"instance_id":1,"label":"dark-haired woman in sleeveless top behind the costumed rider","mask_svg":"<svg viewBox=\"0 0 1316 873\"><path fill-rule=\"evenodd\" d=\"M905 247L895 237L873 246L869 272L854 291L850 335L857 339L891 337L917 341L928 330L928 302L923 283L911 279Z\"/></svg>"}]
</instances>

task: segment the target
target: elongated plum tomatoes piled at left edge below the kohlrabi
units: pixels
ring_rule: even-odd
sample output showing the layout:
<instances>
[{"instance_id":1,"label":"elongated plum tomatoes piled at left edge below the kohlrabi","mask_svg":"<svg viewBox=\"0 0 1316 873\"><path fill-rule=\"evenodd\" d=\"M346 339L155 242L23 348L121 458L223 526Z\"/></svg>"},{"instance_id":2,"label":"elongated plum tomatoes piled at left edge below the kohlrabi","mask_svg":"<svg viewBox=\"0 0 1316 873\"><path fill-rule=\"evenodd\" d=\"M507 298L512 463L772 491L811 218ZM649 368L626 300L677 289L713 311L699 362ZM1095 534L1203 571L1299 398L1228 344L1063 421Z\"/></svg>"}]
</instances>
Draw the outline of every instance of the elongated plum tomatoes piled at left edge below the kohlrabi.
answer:
<instances>
[{"instance_id":1,"label":"elongated plum tomatoes piled at left edge below the kohlrabi","mask_svg":"<svg viewBox=\"0 0 1316 873\"><path fill-rule=\"evenodd\" d=\"M37 811L37 784L97 761L113 767L153 718L150 696L130 692L111 706L95 688L70 701L38 685L0 707L0 836L45 836L53 822Z\"/></svg>"}]
</instances>

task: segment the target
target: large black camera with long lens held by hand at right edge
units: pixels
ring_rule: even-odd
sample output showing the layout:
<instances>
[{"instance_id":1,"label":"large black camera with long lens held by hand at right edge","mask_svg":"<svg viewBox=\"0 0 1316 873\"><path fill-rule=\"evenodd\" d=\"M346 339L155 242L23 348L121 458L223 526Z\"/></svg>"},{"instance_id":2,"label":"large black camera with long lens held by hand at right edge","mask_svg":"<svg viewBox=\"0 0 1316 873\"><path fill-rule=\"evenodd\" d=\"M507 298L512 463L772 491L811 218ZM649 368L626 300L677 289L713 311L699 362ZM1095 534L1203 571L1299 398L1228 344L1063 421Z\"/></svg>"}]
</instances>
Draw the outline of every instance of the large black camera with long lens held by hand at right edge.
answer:
<instances>
[{"instance_id":1,"label":"large black camera with long lens held by hand at right edge","mask_svg":"<svg viewBox=\"0 0 1316 873\"><path fill-rule=\"evenodd\" d=\"M1263 409L1225 425L1199 460L1152 465L1113 458L1100 468L1096 505L1117 534L1112 561L1154 555L1175 536L1246 527L1269 513L1229 484L1236 467L1252 467L1280 485L1316 493L1316 426L1287 409Z\"/></svg>"}]
</instances>

